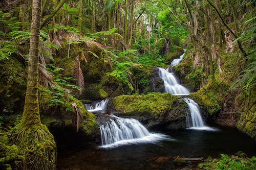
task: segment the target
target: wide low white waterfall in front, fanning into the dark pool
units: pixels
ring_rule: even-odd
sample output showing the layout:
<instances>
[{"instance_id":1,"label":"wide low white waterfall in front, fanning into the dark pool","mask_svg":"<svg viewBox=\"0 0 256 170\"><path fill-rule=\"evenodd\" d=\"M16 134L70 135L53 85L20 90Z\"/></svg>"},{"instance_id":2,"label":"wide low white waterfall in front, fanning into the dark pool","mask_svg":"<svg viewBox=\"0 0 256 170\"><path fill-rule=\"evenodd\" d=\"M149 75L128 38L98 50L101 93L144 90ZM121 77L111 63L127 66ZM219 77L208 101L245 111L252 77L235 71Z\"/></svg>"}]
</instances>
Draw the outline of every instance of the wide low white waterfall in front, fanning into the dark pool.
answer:
<instances>
[{"instance_id":1,"label":"wide low white waterfall in front, fanning into the dark pool","mask_svg":"<svg viewBox=\"0 0 256 170\"><path fill-rule=\"evenodd\" d=\"M148 132L136 119L111 116L114 119L110 119L110 122L99 126L102 143L100 148L115 148L125 144L173 140L164 134Z\"/></svg>"}]
</instances>

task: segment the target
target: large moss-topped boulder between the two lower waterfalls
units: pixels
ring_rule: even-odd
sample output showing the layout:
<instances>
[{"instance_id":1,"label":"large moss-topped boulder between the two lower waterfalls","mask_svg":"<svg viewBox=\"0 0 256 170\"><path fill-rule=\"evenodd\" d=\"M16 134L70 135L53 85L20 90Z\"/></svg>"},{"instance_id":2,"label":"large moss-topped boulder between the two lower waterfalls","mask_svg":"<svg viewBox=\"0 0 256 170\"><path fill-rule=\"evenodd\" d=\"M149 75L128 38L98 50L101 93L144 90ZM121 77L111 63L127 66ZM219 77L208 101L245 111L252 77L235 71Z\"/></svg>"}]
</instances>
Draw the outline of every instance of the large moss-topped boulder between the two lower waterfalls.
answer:
<instances>
[{"instance_id":1,"label":"large moss-topped boulder between the two lower waterfalls","mask_svg":"<svg viewBox=\"0 0 256 170\"><path fill-rule=\"evenodd\" d=\"M153 92L145 95L120 95L113 104L119 116L135 116L147 127L166 129L186 128L186 103L170 93Z\"/></svg>"}]
</instances>

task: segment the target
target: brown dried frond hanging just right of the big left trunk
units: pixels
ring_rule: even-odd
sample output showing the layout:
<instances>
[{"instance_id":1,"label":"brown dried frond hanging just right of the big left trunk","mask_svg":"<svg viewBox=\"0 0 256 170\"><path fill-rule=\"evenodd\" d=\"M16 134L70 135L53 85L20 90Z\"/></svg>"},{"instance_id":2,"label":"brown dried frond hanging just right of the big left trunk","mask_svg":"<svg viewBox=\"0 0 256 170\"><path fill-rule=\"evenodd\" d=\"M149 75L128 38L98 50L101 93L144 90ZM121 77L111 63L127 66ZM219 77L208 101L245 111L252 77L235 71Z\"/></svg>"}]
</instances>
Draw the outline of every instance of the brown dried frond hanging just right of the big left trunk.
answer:
<instances>
[{"instance_id":1,"label":"brown dried frond hanging just right of the big left trunk","mask_svg":"<svg viewBox=\"0 0 256 170\"><path fill-rule=\"evenodd\" d=\"M42 66L41 64L38 65L38 72L39 72L39 78L42 79L42 82L44 82L44 85L47 89L49 89L48 84L53 88L53 86L56 86L56 83L53 81L51 74L46 70L45 66Z\"/></svg>"}]
</instances>

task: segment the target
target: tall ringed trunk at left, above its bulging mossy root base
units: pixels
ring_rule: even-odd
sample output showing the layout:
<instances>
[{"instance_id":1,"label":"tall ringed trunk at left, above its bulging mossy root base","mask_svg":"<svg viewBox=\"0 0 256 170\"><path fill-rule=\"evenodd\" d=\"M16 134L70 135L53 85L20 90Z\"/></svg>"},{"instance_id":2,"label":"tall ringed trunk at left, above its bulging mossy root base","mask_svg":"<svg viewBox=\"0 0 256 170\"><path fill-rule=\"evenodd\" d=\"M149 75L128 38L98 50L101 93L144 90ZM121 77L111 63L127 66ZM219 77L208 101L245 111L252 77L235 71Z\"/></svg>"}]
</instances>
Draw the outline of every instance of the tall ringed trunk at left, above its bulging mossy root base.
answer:
<instances>
[{"instance_id":1,"label":"tall ringed trunk at left, above its bulging mossy root base","mask_svg":"<svg viewBox=\"0 0 256 170\"><path fill-rule=\"evenodd\" d=\"M41 1L33 1L31 38L29 48L29 70L26 100L22 116L22 124L27 127L40 125L38 105L38 52L41 19Z\"/></svg>"}]
</instances>

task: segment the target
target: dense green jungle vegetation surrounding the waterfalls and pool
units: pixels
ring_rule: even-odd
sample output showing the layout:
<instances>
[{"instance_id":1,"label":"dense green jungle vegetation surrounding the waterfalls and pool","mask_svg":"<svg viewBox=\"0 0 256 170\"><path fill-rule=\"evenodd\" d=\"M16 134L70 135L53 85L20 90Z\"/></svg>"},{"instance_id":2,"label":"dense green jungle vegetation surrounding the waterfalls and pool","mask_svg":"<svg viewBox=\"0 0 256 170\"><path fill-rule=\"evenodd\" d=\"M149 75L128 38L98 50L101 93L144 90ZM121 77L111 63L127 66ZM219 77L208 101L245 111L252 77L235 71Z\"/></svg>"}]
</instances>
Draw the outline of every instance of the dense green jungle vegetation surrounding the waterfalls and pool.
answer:
<instances>
[{"instance_id":1,"label":"dense green jungle vegetation surrounding the waterfalls and pool","mask_svg":"<svg viewBox=\"0 0 256 170\"><path fill-rule=\"evenodd\" d=\"M163 90L156 68L170 67L183 48L184 59L173 71L204 117L256 139L255 5L254 0L2 0L0 167L56 169L56 143L65 141L54 133L73 135L70 143L98 135L85 103L110 98L126 113L150 110L152 119L168 110L166 105L183 107L174 102L178 97L158 93ZM236 116L223 118L221 112ZM148 127L156 124L142 119ZM199 168L255 168L255 157L242 158L222 155Z\"/></svg>"}]
</instances>

